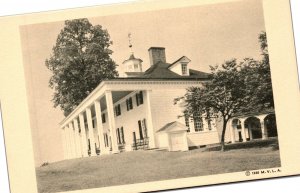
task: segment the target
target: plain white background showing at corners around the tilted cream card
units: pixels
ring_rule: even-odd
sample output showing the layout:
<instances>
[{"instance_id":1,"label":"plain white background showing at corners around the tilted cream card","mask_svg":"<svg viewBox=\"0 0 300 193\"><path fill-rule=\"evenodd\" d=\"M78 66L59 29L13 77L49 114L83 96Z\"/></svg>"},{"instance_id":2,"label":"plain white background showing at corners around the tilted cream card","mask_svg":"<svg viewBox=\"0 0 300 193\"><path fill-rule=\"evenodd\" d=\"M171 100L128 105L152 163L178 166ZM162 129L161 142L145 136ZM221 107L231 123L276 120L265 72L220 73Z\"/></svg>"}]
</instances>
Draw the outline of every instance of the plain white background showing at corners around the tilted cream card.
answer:
<instances>
[{"instance_id":1,"label":"plain white background showing at corners around the tilted cream card","mask_svg":"<svg viewBox=\"0 0 300 193\"><path fill-rule=\"evenodd\" d=\"M3 15L15 15L22 13L31 13L31 12L40 12L47 10L57 10L57 9L67 9L83 6L93 6L101 4L110 4L110 3L123 3L130 2L133 0L72 0L72 1L61 1L61 0L52 0L52 1L40 1L40 0L10 0L4 1L0 0L0 16ZM297 9L300 7L299 0L290 0L291 7L293 12L293 23L294 23L294 34L296 40L296 49L298 57L298 77L300 81L300 13ZM18 6L16 6L18 5ZM0 121L1 117L0 117ZM253 182L243 182L243 183L234 183L228 185L218 185L218 186L209 186L209 187L199 187L183 190L173 190L165 191L166 193L212 193L212 192L223 192L223 193L246 193L246 192L298 192L300 184L300 176L297 177L286 177L278 178L273 180L263 180L263 181L253 181ZM0 126L0 189L1 193L9 193L8 186L8 175L7 175L7 166L5 158L5 149L4 149L4 140L3 140L3 129L2 124Z\"/></svg>"}]
</instances>

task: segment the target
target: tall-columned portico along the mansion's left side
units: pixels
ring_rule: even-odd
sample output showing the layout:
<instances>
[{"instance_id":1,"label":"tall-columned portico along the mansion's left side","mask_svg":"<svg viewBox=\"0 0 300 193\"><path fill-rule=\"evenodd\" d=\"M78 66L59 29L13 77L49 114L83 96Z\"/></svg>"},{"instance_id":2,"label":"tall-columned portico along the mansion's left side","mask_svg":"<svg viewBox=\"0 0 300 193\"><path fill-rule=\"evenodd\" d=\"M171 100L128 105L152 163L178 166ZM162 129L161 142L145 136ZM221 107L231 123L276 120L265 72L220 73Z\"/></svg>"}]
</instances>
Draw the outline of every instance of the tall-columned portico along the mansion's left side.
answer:
<instances>
[{"instance_id":1,"label":"tall-columned portico along the mansion's left side","mask_svg":"<svg viewBox=\"0 0 300 193\"><path fill-rule=\"evenodd\" d=\"M131 151L134 138L147 137L148 147L155 148L151 95L153 89L169 87L167 82L103 81L61 122L65 157L72 159ZM198 81L188 82L199 84ZM186 87L182 81L172 83ZM138 96L142 101L137 102Z\"/></svg>"}]
</instances>

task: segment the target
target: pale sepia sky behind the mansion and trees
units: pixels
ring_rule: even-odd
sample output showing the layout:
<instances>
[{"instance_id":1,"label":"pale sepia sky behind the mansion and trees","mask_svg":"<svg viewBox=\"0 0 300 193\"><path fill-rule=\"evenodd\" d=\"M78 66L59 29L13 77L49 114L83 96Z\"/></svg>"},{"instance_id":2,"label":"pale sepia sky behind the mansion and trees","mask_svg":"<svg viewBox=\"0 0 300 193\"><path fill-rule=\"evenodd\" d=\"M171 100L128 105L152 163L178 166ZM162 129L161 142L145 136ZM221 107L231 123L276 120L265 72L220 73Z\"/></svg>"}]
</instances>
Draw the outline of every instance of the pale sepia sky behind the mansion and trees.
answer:
<instances>
[{"instance_id":1,"label":"pale sepia sky behind the mansion and trees","mask_svg":"<svg viewBox=\"0 0 300 193\"><path fill-rule=\"evenodd\" d=\"M168 63L184 55L191 60L190 68L205 72L209 65L232 58L261 58L258 34L265 30L261 0L88 19L108 30L120 74L130 54L128 33L134 55L144 61L143 70L149 67L148 48L152 46L166 48ZM64 21L20 27L36 165L63 159L59 122L64 117L51 102L51 72L45 66L63 27Z\"/></svg>"}]
</instances>

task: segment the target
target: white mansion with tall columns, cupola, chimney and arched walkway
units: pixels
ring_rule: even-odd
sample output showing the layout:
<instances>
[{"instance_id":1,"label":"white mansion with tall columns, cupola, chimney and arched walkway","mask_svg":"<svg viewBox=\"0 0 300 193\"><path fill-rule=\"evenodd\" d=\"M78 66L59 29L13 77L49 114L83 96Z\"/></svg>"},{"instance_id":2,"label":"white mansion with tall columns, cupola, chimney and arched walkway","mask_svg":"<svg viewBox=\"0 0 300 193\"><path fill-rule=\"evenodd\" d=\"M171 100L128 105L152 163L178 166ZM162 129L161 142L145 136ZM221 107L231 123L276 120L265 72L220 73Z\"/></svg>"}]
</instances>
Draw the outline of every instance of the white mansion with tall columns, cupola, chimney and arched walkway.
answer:
<instances>
[{"instance_id":1,"label":"white mansion with tall columns, cupola, chimney and arched walkway","mask_svg":"<svg viewBox=\"0 0 300 193\"><path fill-rule=\"evenodd\" d=\"M65 159L138 149L186 151L220 142L217 118L194 121L174 104L186 88L209 81L209 74L189 68L186 56L166 63L165 48L149 48L150 68L132 54L123 62L124 77L101 82L61 123ZM277 136L274 113L231 120L226 141L235 143ZM276 124L275 124L276 125Z\"/></svg>"}]
</instances>

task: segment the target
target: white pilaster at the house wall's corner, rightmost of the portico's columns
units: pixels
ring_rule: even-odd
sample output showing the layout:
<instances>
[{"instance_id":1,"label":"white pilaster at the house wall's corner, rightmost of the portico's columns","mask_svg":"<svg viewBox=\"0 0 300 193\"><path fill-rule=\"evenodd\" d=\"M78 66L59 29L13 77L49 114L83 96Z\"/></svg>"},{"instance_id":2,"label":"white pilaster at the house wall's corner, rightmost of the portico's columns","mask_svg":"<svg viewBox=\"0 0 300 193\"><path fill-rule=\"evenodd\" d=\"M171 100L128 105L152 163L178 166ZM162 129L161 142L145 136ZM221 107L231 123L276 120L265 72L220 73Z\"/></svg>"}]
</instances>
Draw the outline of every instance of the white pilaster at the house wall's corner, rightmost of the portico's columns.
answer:
<instances>
[{"instance_id":1,"label":"white pilaster at the house wall's corner, rightmost of the portico's columns","mask_svg":"<svg viewBox=\"0 0 300 193\"><path fill-rule=\"evenodd\" d=\"M147 98L147 129L149 135L149 147L155 148L156 147L156 140L155 140L155 133L153 128L153 119L152 119L152 112L151 112L151 90L146 90L146 98Z\"/></svg>"}]
</instances>

